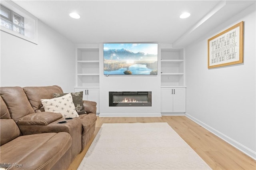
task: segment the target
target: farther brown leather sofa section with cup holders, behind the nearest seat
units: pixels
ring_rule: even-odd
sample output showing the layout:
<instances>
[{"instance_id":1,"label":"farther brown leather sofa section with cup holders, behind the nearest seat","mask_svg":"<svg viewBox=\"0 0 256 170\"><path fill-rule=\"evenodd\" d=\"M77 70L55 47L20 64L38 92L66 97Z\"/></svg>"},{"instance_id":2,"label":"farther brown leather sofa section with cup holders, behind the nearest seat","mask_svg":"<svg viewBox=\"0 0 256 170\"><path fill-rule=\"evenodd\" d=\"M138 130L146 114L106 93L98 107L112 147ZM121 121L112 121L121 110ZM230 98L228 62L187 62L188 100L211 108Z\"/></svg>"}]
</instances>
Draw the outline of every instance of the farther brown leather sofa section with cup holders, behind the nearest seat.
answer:
<instances>
[{"instance_id":1,"label":"farther brown leather sofa section with cup holders, behind the nearest seat","mask_svg":"<svg viewBox=\"0 0 256 170\"><path fill-rule=\"evenodd\" d=\"M18 125L23 135L52 132L70 134L72 138L70 149L72 162L76 155L84 149L94 133L97 120L96 102L83 101L86 114L66 120L61 114L46 112L42 107L40 99L52 99L53 93L63 93L63 91L57 85L23 88L0 87L0 95L8 108L10 117ZM61 121L66 121L66 123L59 124ZM2 137L4 136L1 132L1 140Z\"/></svg>"}]
</instances>

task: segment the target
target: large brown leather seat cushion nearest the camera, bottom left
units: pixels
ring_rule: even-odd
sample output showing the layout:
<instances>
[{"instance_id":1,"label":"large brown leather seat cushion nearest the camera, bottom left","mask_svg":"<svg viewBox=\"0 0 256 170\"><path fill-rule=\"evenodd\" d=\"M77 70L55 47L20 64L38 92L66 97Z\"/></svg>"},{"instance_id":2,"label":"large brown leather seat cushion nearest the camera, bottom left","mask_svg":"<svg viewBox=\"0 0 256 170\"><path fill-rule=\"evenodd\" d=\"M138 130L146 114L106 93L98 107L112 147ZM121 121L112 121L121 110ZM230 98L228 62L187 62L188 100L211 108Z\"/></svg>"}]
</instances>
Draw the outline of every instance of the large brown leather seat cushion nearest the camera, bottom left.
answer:
<instances>
[{"instance_id":1,"label":"large brown leather seat cushion nearest the camera, bottom left","mask_svg":"<svg viewBox=\"0 0 256 170\"><path fill-rule=\"evenodd\" d=\"M51 169L71 143L71 136L66 132L19 136L1 146L0 161L10 163L9 170L15 168L14 164L22 166L20 169Z\"/></svg>"}]
</instances>

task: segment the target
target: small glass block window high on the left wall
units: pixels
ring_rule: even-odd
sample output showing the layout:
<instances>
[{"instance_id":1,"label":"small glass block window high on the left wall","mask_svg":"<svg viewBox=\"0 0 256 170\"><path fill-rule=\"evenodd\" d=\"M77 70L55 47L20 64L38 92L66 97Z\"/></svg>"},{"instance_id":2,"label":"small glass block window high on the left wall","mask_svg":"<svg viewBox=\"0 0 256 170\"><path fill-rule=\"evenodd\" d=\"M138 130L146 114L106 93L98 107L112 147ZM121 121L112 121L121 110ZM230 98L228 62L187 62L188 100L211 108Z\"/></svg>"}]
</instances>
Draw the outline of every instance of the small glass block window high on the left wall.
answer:
<instances>
[{"instance_id":1,"label":"small glass block window high on the left wall","mask_svg":"<svg viewBox=\"0 0 256 170\"><path fill-rule=\"evenodd\" d=\"M24 17L1 4L1 26L24 35Z\"/></svg>"}]
</instances>

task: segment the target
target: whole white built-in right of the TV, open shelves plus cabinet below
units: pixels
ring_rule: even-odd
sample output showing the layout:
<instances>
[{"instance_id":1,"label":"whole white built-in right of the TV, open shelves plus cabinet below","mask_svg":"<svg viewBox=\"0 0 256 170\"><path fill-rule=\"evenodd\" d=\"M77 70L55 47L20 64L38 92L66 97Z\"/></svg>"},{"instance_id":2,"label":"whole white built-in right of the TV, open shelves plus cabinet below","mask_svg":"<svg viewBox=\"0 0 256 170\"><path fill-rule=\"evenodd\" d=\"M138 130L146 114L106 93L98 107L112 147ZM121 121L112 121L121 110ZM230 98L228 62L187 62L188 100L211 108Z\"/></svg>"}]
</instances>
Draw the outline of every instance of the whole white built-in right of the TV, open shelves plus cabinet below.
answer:
<instances>
[{"instance_id":1,"label":"whole white built-in right of the TV, open shelves plus cabinet below","mask_svg":"<svg viewBox=\"0 0 256 170\"><path fill-rule=\"evenodd\" d=\"M161 47L161 114L186 112L183 48Z\"/></svg>"}]
</instances>

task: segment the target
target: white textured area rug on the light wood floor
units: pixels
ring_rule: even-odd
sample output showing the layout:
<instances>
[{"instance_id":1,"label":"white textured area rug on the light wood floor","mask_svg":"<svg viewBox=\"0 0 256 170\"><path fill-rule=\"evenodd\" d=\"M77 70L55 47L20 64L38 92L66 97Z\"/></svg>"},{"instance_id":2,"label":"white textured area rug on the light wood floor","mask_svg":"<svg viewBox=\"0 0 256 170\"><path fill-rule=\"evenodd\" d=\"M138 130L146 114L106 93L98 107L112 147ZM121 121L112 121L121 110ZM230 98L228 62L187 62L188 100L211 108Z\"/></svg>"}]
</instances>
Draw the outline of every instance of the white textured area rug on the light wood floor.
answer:
<instances>
[{"instance_id":1,"label":"white textured area rug on the light wood floor","mask_svg":"<svg viewBox=\"0 0 256 170\"><path fill-rule=\"evenodd\" d=\"M168 123L103 124L78 170L209 170Z\"/></svg>"}]
</instances>

